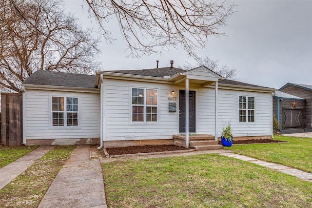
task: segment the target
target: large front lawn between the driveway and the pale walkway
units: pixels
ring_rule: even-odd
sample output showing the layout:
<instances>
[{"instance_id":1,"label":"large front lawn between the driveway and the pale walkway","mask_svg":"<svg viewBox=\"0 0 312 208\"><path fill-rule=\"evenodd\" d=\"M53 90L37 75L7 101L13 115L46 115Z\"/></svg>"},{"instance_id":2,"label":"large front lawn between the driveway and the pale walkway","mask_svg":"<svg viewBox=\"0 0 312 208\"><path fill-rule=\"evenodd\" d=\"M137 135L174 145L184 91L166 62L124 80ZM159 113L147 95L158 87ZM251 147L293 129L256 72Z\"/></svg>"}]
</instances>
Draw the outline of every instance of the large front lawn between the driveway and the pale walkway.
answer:
<instances>
[{"instance_id":1,"label":"large front lawn between the driveway and the pale walkway","mask_svg":"<svg viewBox=\"0 0 312 208\"><path fill-rule=\"evenodd\" d=\"M108 207L312 207L312 183L216 154L103 163Z\"/></svg>"}]
</instances>

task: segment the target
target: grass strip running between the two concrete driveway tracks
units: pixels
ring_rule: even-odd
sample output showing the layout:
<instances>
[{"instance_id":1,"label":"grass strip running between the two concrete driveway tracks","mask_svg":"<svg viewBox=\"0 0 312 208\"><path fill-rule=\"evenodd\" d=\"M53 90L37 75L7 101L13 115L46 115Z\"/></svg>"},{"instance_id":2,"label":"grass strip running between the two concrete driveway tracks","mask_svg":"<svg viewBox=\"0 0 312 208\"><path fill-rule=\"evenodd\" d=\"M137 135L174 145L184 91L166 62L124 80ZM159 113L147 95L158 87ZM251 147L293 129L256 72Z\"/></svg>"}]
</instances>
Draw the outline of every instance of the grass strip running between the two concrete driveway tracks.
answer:
<instances>
[{"instance_id":1,"label":"grass strip running between the two concrete driveway tracks","mask_svg":"<svg viewBox=\"0 0 312 208\"><path fill-rule=\"evenodd\" d=\"M75 146L54 146L0 190L0 207L37 208Z\"/></svg>"}]
</instances>

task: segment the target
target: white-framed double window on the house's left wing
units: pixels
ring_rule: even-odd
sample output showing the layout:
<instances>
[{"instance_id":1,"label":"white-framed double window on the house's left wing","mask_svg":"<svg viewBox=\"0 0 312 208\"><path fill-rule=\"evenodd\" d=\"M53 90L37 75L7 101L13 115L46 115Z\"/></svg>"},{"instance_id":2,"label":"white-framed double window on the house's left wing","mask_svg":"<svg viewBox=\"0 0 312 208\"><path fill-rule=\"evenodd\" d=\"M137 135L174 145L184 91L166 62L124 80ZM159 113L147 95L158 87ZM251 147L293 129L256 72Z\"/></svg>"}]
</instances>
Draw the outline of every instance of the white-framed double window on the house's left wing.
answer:
<instances>
[{"instance_id":1,"label":"white-framed double window on the house's left wing","mask_svg":"<svg viewBox=\"0 0 312 208\"><path fill-rule=\"evenodd\" d=\"M78 126L78 98L52 97L52 125Z\"/></svg>"}]
</instances>

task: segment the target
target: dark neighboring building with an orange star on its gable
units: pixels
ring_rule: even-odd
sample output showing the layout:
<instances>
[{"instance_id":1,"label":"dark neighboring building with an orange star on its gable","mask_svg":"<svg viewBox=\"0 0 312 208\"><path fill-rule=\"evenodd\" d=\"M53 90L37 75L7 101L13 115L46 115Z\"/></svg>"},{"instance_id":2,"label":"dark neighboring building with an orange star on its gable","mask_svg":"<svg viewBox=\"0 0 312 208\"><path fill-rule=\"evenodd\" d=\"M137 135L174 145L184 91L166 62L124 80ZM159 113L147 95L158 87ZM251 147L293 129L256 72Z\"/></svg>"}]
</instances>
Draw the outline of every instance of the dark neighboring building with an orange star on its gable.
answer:
<instances>
[{"instance_id":1,"label":"dark neighboring building with an orange star on its gable","mask_svg":"<svg viewBox=\"0 0 312 208\"><path fill-rule=\"evenodd\" d=\"M312 131L312 85L287 83L273 96L281 134Z\"/></svg>"}]
</instances>

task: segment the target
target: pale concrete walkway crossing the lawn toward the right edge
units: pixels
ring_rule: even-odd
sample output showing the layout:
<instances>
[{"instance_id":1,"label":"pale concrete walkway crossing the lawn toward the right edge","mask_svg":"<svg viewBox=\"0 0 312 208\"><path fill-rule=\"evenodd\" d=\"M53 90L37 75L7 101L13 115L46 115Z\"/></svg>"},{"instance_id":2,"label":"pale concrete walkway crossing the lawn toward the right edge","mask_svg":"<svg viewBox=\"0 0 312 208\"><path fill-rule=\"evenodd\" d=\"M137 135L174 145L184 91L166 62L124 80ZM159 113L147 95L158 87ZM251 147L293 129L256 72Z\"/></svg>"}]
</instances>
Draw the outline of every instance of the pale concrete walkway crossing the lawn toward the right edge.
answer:
<instances>
[{"instance_id":1,"label":"pale concrete walkway crossing the lawn toward the right edge","mask_svg":"<svg viewBox=\"0 0 312 208\"><path fill-rule=\"evenodd\" d=\"M259 166L265 166L265 167L268 167L268 168L277 170L279 172L295 176L295 177L300 178L304 181L308 181L308 182L312 183L312 173L307 173L307 172L304 172L302 170L298 170L298 169L288 167L288 166L283 166L283 165L276 164L276 163L269 163L266 161L254 159L252 157L248 157L248 156L244 156L244 155L239 155L239 154L234 154L234 153L219 153L219 154L227 156L227 157L233 157L233 158L236 158L239 160L247 161L250 163L254 163L254 164L257 164Z\"/></svg>"}]
</instances>

